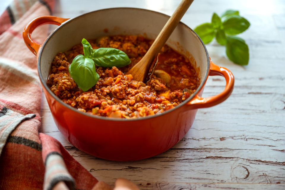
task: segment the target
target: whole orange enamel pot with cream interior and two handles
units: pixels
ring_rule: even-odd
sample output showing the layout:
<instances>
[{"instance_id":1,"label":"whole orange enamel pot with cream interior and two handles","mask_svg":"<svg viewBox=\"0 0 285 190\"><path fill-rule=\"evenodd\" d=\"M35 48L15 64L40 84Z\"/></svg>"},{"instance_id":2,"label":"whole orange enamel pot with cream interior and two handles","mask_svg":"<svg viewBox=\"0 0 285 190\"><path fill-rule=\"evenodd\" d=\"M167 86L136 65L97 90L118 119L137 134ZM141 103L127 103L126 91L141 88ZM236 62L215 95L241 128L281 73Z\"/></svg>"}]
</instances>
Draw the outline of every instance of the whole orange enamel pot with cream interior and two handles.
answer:
<instances>
[{"instance_id":1,"label":"whole orange enamel pot with cream interior and two handles","mask_svg":"<svg viewBox=\"0 0 285 190\"><path fill-rule=\"evenodd\" d=\"M167 151L178 143L194 122L198 108L223 102L232 93L234 77L224 67L213 64L208 51L197 34L180 22L167 45L194 60L199 72L200 86L188 99L164 113L118 119L90 115L62 102L47 86L51 62L58 52L69 50L83 38L96 39L106 35L142 34L155 39L170 17L159 12L137 8L111 8L89 12L75 18L42 16L32 20L24 29L27 47L37 56L39 78L56 126L75 147L93 156L117 161L145 159ZM31 39L31 33L42 24L56 28L42 45ZM108 33L106 34L106 30ZM208 76L226 79L224 91L216 96L202 97Z\"/></svg>"}]
</instances>

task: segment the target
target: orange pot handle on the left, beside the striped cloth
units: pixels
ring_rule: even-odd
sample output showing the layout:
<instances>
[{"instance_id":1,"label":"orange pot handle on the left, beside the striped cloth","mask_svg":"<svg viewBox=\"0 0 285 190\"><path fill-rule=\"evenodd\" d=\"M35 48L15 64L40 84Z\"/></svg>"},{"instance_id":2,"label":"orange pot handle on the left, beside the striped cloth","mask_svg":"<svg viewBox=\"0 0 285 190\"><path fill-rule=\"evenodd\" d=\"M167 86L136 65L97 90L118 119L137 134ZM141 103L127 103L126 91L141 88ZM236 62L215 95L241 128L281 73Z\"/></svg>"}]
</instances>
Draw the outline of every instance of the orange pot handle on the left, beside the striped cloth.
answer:
<instances>
[{"instance_id":1,"label":"orange pot handle on the left, beside the striped cloth","mask_svg":"<svg viewBox=\"0 0 285 190\"><path fill-rule=\"evenodd\" d=\"M60 26L66 20L69 20L69 18L60 18L56 16L41 16L41 17L35 18L31 22L29 22L29 24L23 30L23 38L24 38L25 44L31 50L31 52L37 56L39 48L42 45L37 44L31 39L31 34L34 31L34 29L36 29L38 26L41 26L43 24L56 24Z\"/></svg>"}]
</instances>

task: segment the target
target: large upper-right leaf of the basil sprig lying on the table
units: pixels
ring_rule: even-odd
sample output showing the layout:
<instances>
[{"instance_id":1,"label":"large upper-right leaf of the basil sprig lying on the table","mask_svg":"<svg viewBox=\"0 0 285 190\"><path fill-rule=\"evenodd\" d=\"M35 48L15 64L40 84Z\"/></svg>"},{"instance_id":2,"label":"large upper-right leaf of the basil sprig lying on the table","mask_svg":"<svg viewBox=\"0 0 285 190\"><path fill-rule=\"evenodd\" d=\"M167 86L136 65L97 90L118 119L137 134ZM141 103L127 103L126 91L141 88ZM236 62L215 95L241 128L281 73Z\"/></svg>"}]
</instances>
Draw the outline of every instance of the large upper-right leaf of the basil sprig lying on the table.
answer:
<instances>
[{"instance_id":1,"label":"large upper-right leaf of the basil sprig lying on the table","mask_svg":"<svg viewBox=\"0 0 285 190\"><path fill-rule=\"evenodd\" d=\"M223 22L224 31L229 35L240 34L248 29L249 26L248 20L239 15L228 16Z\"/></svg>"}]
</instances>

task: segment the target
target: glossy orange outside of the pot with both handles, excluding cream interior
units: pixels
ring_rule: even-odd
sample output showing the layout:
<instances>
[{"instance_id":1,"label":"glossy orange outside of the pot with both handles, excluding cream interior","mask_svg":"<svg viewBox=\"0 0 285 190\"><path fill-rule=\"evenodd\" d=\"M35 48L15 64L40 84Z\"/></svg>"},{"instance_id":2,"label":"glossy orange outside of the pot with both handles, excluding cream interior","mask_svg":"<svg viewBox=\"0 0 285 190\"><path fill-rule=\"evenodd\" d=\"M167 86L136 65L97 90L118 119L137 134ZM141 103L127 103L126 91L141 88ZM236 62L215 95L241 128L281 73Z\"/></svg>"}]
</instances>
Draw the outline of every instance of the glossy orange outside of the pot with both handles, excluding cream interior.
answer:
<instances>
[{"instance_id":1,"label":"glossy orange outside of the pot with both handles, excluding cream interior","mask_svg":"<svg viewBox=\"0 0 285 190\"><path fill-rule=\"evenodd\" d=\"M41 24L60 25L66 20L68 19L44 16L32 20L25 27L24 41L38 59L41 45L31 40L32 31ZM209 75L225 77L226 87L223 92L202 98L204 82L192 99L178 107L163 114L130 120L91 116L77 111L58 101L47 88L46 81L40 78L56 126L70 143L99 158L130 161L149 158L168 150L188 132L198 108L217 105L229 97L234 86L232 73L224 67L213 64L212 61L208 66L207 77Z\"/></svg>"}]
</instances>

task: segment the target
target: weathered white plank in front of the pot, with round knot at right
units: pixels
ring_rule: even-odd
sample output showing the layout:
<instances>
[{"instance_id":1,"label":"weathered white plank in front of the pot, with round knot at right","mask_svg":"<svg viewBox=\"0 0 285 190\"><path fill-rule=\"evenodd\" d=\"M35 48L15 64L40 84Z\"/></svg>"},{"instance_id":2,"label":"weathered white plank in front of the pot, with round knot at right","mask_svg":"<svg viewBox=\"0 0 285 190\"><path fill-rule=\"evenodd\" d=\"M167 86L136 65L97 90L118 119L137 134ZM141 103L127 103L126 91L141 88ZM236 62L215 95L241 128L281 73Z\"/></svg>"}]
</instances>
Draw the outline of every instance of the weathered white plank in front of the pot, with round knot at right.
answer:
<instances>
[{"instance_id":1,"label":"weathered white plank in front of the pot, with round knot at right","mask_svg":"<svg viewBox=\"0 0 285 190\"><path fill-rule=\"evenodd\" d=\"M150 159L115 162L66 147L99 180L137 182L285 183L285 162L248 159L250 149L172 148ZM87 160L87 161L86 161Z\"/></svg>"}]
</instances>

